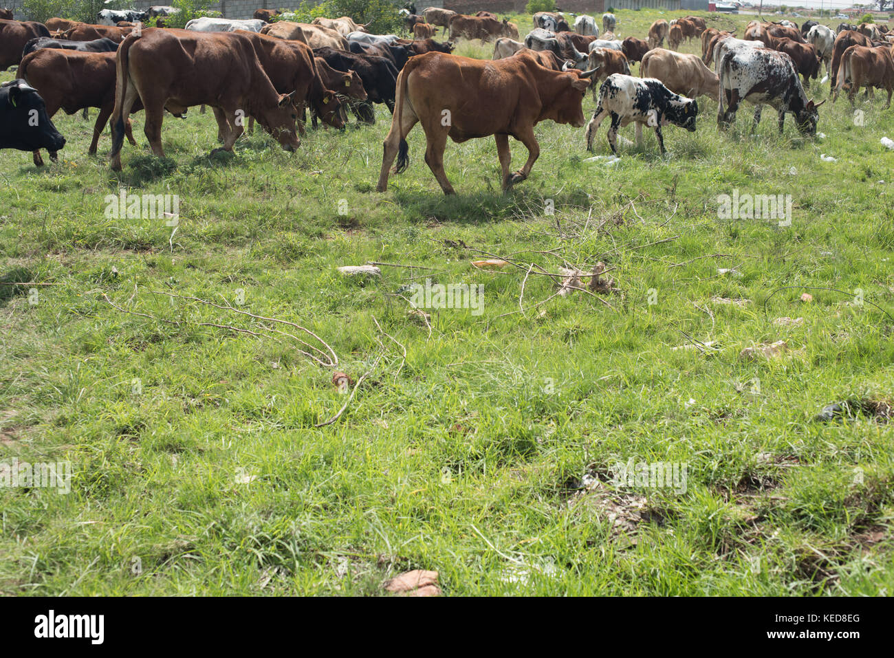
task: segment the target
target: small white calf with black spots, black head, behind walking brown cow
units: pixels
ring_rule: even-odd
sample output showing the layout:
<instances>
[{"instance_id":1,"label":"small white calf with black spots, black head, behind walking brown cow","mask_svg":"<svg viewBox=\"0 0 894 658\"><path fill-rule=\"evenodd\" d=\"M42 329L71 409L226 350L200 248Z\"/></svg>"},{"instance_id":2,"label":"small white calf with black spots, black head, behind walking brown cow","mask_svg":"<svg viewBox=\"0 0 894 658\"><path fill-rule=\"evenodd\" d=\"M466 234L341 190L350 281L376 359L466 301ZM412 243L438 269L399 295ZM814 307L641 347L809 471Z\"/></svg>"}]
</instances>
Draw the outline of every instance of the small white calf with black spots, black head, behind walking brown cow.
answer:
<instances>
[{"instance_id":1,"label":"small white calf with black spots, black head, behind walking brown cow","mask_svg":"<svg viewBox=\"0 0 894 658\"><path fill-rule=\"evenodd\" d=\"M605 117L611 116L608 138L612 153L618 154L618 129L636 122L637 145L642 146L645 123L655 129L663 155L667 151L664 149L662 126L673 124L694 132L697 114L698 104L695 100L673 93L661 80L614 73L605 79L602 89L599 89L599 103L593 118L586 124L586 148L593 150L599 125Z\"/></svg>"}]
</instances>

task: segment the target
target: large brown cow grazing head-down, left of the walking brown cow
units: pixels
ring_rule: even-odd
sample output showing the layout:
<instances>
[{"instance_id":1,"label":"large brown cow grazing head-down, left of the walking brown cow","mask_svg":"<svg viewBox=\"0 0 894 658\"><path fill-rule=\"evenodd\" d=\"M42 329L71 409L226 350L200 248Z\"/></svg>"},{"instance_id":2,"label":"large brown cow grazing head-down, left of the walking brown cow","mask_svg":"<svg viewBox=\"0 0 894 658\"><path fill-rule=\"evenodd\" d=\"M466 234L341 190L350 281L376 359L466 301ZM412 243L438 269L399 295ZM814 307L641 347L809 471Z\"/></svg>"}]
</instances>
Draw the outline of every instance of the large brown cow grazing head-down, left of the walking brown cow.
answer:
<instances>
[{"instance_id":1,"label":"large brown cow grazing head-down, left of the walking brown cow","mask_svg":"<svg viewBox=\"0 0 894 658\"><path fill-rule=\"evenodd\" d=\"M144 132L159 157L164 157L164 110L181 114L191 105L223 110L225 125L218 125L223 150L232 151L242 134L240 114L253 115L284 149L294 151L300 145L294 96L276 92L251 39L241 33L148 28L122 43L116 72L110 156L114 171L122 168L124 118L138 98L146 113Z\"/></svg>"}]
</instances>

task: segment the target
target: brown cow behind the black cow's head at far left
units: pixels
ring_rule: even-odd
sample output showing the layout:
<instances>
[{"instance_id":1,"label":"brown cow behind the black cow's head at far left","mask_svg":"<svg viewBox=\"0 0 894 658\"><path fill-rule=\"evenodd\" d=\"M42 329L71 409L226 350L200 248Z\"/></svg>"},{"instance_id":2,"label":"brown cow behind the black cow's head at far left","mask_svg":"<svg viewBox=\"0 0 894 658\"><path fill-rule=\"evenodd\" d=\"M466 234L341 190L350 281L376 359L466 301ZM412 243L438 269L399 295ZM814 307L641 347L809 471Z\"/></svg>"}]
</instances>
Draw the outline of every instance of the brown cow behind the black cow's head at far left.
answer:
<instances>
[{"instance_id":1,"label":"brown cow behind the black cow's head at far left","mask_svg":"<svg viewBox=\"0 0 894 658\"><path fill-rule=\"evenodd\" d=\"M18 75L37 89L46 103L46 114L51 119L63 109L74 114L87 107L98 107L99 115L93 126L93 139L88 153L97 152L99 136L112 115L114 108L115 53L81 53L76 50L41 48L21 60ZM131 107L131 114L143 109L139 100ZM136 146L131 132L131 119L124 131L131 144ZM55 162L55 151L50 152ZM34 164L43 165L40 151L34 152Z\"/></svg>"}]
</instances>

